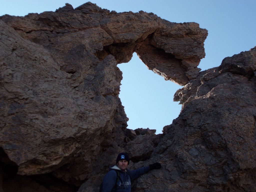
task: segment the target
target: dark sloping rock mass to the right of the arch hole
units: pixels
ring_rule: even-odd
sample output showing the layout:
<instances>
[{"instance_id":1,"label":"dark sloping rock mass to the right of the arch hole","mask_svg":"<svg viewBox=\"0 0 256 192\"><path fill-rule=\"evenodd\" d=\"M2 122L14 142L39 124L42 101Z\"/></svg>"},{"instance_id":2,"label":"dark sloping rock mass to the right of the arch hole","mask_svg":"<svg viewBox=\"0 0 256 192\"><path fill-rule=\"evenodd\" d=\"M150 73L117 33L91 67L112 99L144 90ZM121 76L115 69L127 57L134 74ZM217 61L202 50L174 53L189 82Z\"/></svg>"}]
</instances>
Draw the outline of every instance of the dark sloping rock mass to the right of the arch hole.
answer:
<instances>
[{"instance_id":1,"label":"dark sloping rock mass to the right of the arch hole","mask_svg":"<svg viewBox=\"0 0 256 192\"><path fill-rule=\"evenodd\" d=\"M184 178L197 181L193 191L198 183L209 191L256 189L255 56L254 49L225 58L176 92L183 110L164 128L166 147Z\"/></svg>"}]
</instances>

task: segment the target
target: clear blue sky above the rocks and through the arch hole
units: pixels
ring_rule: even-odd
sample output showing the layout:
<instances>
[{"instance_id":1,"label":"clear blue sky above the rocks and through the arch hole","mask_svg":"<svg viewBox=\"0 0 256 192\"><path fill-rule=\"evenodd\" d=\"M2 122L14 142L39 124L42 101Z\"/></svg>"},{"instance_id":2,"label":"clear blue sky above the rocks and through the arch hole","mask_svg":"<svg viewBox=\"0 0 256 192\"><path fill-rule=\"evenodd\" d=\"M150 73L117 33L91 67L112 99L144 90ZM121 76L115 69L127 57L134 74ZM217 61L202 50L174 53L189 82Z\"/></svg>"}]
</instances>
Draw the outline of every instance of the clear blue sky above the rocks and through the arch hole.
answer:
<instances>
[{"instance_id":1,"label":"clear blue sky above the rocks and through the arch hole","mask_svg":"<svg viewBox=\"0 0 256 192\"><path fill-rule=\"evenodd\" d=\"M80 0L0 0L0 15L24 16L28 13L55 11L70 3L74 8L86 3ZM179 0L179 1L91 1L101 8L117 12L153 12L170 22L196 22L208 30L205 41L206 56L199 67L206 70L217 67L222 59L247 51L256 46L255 0ZM119 64L123 72L120 98L124 105L129 129L150 128L162 133L165 125L172 123L180 113L181 105L173 102L173 95L181 88L165 81L134 54L129 63Z\"/></svg>"}]
</instances>

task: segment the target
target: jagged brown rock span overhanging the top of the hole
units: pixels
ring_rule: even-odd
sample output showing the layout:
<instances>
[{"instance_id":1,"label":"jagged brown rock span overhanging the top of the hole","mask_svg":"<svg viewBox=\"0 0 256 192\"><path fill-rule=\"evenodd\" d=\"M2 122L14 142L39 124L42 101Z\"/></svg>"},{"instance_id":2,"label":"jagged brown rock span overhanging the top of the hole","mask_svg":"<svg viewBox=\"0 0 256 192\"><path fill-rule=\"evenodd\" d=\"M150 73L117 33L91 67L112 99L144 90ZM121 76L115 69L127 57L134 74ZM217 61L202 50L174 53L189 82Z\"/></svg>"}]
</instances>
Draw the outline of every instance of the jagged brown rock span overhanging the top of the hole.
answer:
<instances>
[{"instance_id":1,"label":"jagged brown rock span overhanging the top of the hole","mask_svg":"<svg viewBox=\"0 0 256 192\"><path fill-rule=\"evenodd\" d=\"M87 72L81 62L85 56L93 60L94 55L90 54L100 60L112 54L117 63L122 63L128 62L136 51L149 69L184 85L198 74L197 66L205 56L207 30L197 23L170 23L143 11L116 13L86 3L74 10L66 5L56 12L25 17L5 15L1 19L23 38L47 48L62 70L70 73ZM152 49L167 61L152 56ZM79 59L74 63L76 56Z\"/></svg>"}]
</instances>

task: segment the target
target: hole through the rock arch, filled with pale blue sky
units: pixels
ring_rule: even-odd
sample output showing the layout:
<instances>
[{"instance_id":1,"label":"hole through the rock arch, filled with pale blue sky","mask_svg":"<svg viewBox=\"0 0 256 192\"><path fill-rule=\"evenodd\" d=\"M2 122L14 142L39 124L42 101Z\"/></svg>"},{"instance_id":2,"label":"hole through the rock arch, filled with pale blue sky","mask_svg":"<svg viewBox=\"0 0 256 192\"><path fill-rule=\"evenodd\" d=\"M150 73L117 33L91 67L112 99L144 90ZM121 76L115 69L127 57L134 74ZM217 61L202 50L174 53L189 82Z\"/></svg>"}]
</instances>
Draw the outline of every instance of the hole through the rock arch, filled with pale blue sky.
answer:
<instances>
[{"instance_id":1,"label":"hole through the rock arch, filled with pale blue sky","mask_svg":"<svg viewBox=\"0 0 256 192\"><path fill-rule=\"evenodd\" d=\"M150 128L162 133L163 127L180 113L181 105L173 102L173 95L181 86L148 70L135 52L128 63L118 67L123 73L119 97L129 118L127 128Z\"/></svg>"}]
</instances>

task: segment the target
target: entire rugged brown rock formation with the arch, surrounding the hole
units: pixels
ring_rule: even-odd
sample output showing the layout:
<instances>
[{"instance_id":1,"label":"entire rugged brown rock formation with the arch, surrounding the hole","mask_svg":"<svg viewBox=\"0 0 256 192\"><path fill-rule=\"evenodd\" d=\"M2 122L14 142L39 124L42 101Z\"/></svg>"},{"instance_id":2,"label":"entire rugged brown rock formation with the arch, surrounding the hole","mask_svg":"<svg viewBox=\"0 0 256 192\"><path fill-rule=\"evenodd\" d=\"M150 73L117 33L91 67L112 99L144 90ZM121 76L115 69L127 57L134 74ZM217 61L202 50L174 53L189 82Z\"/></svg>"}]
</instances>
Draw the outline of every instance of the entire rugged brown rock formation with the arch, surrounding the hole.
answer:
<instances>
[{"instance_id":1,"label":"entire rugged brown rock formation with the arch, surrounding the hole","mask_svg":"<svg viewBox=\"0 0 256 192\"><path fill-rule=\"evenodd\" d=\"M207 30L198 24L90 2L4 15L0 34L0 191L98 191L122 151L131 169L163 165L133 191L256 190L255 48L199 72ZM126 129L116 65L133 52L184 85L174 96L182 111L163 134Z\"/></svg>"}]
</instances>

